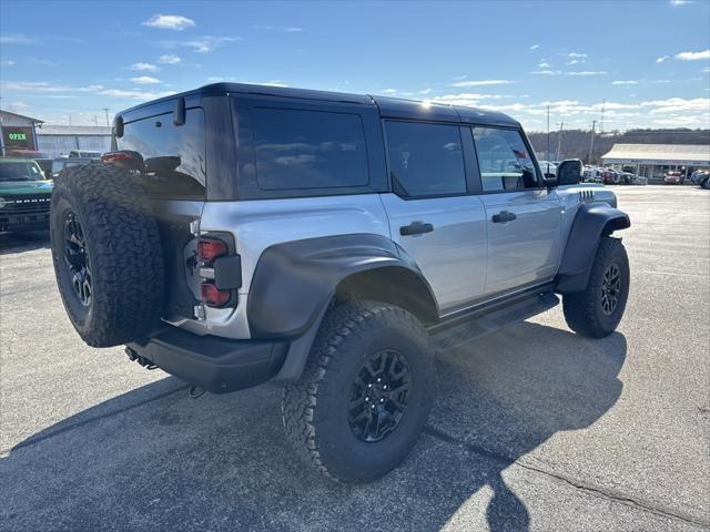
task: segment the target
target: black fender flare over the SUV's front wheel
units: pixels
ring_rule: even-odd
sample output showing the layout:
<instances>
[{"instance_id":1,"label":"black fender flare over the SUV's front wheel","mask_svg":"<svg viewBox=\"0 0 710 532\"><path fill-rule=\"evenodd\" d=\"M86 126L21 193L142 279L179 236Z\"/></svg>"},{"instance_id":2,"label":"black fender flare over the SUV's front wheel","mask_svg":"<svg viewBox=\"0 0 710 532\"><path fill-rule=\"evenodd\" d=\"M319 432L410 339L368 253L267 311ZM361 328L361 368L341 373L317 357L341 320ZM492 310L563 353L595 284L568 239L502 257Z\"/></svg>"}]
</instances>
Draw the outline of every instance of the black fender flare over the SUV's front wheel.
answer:
<instances>
[{"instance_id":1,"label":"black fender flare over the SUV's front wheel","mask_svg":"<svg viewBox=\"0 0 710 532\"><path fill-rule=\"evenodd\" d=\"M557 291L582 291L587 287L600 238L630 226L629 215L608 203L592 202L581 205L575 215L562 253L557 273Z\"/></svg>"}]
</instances>

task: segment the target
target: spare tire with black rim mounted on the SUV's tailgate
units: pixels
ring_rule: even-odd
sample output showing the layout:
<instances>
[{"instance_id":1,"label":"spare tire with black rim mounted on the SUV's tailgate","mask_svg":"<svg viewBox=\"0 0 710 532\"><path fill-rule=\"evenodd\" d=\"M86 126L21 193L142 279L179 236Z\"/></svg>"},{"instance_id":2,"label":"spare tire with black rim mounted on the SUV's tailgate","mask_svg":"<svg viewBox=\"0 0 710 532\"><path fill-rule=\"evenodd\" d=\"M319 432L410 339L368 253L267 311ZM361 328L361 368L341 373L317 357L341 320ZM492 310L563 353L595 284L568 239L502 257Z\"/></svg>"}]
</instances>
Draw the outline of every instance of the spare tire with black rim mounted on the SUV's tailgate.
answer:
<instances>
[{"instance_id":1,"label":"spare tire with black rim mounted on the SUV's tailgate","mask_svg":"<svg viewBox=\"0 0 710 532\"><path fill-rule=\"evenodd\" d=\"M87 344L126 344L159 323L160 233L130 172L102 163L62 172L54 181L50 233L57 285Z\"/></svg>"}]
</instances>

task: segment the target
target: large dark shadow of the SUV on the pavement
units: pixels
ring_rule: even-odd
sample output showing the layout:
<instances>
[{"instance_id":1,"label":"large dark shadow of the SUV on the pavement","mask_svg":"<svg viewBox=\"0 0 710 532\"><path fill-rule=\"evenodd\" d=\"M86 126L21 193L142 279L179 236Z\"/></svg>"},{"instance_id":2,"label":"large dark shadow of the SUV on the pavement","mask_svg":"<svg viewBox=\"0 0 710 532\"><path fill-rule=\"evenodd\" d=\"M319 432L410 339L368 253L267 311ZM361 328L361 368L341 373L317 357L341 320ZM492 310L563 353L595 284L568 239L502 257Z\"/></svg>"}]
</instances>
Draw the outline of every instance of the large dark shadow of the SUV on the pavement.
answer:
<instances>
[{"instance_id":1,"label":"large dark shadow of the SUV on the pavement","mask_svg":"<svg viewBox=\"0 0 710 532\"><path fill-rule=\"evenodd\" d=\"M276 386L192 400L169 377L10 450L0 459L0 523L428 531L487 521L491 531L524 531L529 510L506 484L506 468L604 416L621 392L625 358L620 334L592 341L531 323L439 354L425 434L400 467L359 487L335 484L294 459Z\"/></svg>"}]
</instances>

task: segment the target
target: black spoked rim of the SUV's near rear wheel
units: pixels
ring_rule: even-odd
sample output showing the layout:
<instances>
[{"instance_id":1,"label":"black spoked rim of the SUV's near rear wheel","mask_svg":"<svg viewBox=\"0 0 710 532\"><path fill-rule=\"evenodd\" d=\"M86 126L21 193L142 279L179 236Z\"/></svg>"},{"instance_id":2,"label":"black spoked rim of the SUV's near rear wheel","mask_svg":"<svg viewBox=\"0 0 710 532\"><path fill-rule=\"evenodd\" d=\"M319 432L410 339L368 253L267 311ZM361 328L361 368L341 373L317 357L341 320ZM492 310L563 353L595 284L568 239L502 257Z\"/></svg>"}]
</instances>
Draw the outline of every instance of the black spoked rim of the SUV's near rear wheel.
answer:
<instances>
[{"instance_id":1,"label":"black spoked rim of the SUV's near rear wheel","mask_svg":"<svg viewBox=\"0 0 710 532\"><path fill-rule=\"evenodd\" d=\"M349 395L348 422L355 437L376 442L389 436L402 421L410 386L400 352L383 349L367 356Z\"/></svg>"}]
</instances>

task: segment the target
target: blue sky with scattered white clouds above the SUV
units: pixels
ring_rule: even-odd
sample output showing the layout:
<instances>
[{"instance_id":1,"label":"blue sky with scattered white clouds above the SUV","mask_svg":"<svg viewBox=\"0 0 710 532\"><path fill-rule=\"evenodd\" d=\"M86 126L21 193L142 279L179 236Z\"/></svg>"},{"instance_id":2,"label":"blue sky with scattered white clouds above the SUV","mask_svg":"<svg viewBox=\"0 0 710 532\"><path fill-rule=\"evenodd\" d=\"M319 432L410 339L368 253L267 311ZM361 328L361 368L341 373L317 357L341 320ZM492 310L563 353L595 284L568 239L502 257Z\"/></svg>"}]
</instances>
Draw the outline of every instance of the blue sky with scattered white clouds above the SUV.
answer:
<instances>
[{"instance_id":1,"label":"blue sky with scattered white clouds above the SUV","mask_svg":"<svg viewBox=\"0 0 710 532\"><path fill-rule=\"evenodd\" d=\"M50 123L213 81L710 127L710 1L0 3L0 106ZM606 104L604 101L606 100Z\"/></svg>"}]
</instances>

